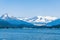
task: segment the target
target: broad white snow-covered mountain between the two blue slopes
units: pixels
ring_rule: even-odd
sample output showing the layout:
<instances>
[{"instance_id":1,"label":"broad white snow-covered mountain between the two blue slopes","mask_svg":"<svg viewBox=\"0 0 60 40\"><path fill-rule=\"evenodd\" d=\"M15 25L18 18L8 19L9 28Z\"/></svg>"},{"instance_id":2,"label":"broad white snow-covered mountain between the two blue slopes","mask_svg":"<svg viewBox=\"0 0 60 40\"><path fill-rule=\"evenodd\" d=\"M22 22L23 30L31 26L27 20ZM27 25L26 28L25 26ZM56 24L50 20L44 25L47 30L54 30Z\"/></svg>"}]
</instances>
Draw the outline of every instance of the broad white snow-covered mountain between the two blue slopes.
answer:
<instances>
[{"instance_id":1,"label":"broad white snow-covered mountain between the two blue slopes","mask_svg":"<svg viewBox=\"0 0 60 40\"><path fill-rule=\"evenodd\" d=\"M46 25L47 23L52 22L56 19L58 19L58 18L51 17L51 16L35 16L32 18L26 19L26 21L33 23L34 25L42 26L42 25Z\"/></svg>"}]
</instances>

